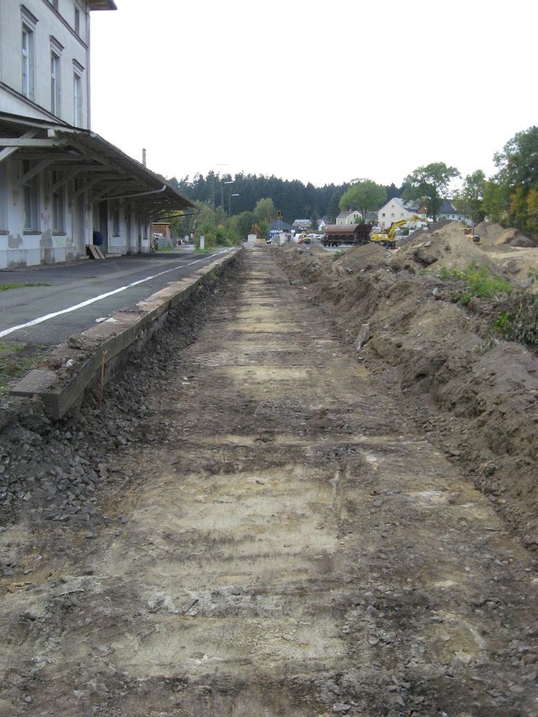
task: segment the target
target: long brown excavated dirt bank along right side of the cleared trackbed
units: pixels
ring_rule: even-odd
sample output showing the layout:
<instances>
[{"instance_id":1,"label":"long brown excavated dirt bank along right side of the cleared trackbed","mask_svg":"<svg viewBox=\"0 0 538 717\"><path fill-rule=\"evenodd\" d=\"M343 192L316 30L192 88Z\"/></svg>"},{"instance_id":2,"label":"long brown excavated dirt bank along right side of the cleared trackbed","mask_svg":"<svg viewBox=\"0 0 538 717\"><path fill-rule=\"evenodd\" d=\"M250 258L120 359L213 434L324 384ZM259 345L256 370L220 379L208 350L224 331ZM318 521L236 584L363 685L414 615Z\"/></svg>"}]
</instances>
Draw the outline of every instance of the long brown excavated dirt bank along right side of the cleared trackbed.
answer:
<instances>
[{"instance_id":1,"label":"long brown excavated dirt bank along right side of the cleared trackbed","mask_svg":"<svg viewBox=\"0 0 538 717\"><path fill-rule=\"evenodd\" d=\"M334 262L278 258L308 284L308 298L324 307L352 350L368 324L371 338L357 359L382 374L402 400L402 416L411 412L425 438L461 463L524 543L538 548L537 356L492 333L512 310L508 298L475 297L463 306L458 282L437 276L442 266L487 262L513 281L524 270L510 262L525 253L524 262L535 262L538 251L476 246L461 226L450 222L384 262L366 261L379 247Z\"/></svg>"}]
</instances>

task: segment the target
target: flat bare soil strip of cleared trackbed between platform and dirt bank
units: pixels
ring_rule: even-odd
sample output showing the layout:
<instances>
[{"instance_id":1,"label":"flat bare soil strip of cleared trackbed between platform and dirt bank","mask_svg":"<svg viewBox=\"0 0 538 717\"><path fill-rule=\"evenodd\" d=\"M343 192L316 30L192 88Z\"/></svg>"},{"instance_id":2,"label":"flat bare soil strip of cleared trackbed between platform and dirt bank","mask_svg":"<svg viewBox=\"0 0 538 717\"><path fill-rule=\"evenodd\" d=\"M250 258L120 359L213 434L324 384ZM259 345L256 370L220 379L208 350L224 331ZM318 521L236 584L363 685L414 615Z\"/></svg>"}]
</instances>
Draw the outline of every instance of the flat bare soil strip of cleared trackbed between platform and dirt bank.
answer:
<instances>
[{"instance_id":1,"label":"flat bare soil strip of cleared trackbed between platform and dirt bank","mask_svg":"<svg viewBox=\"0 0 538 717\"><path fill-rule=\"evenodd\" d=\"M417 422L420 376L357 361L320 267L305 288L278 252L246 252L194 343L150 347L143 399L110 388L86 528L9 513L0 713L538 713L533 554Z\"/></svg>"}]
</instances>

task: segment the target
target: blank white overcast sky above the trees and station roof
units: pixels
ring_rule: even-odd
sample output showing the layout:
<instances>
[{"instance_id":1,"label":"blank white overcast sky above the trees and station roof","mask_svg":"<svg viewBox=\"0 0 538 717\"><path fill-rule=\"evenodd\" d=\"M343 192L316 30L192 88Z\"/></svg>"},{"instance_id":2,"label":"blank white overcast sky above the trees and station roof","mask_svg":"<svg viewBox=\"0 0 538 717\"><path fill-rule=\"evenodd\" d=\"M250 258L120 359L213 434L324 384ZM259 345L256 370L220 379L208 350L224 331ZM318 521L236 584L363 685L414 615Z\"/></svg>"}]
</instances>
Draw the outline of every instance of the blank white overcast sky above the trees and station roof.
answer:
<instances>
[{"instance_id":1,"label":"blank white overcast sky above the trees and station roof","mask_svg":"<svg viewBox=\"0 0 538 717\"><path fill-rule=\"evenodd\" d=\"M490 175L538 123L536 0L115 1L91 14L92 129L168 179Z\"/></svg>"}]
</instances>

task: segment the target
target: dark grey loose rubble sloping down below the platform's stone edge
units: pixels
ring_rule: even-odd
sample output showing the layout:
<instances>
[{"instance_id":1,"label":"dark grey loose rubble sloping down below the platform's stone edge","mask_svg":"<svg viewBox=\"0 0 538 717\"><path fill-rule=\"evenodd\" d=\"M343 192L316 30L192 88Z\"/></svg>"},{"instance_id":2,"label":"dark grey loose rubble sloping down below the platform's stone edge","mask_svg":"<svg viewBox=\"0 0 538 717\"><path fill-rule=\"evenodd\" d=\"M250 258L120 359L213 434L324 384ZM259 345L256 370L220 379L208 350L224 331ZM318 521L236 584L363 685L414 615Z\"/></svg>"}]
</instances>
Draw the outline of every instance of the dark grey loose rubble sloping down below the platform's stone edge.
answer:
<instances>
[{"instance_id":1,"label":"dark grey loose rubble sloping down below the platform's stone edge","mask_svg":"<svg viewBox=\"0 0 538 717\"><path fill-rule=\"evenodd\" d=\"M88 528L103 522L96 493L110 484L128 483L121 470L108 466L110 452L143 437L156 440L164 427L148 424L148 396L166 382L174 355L194 340L217 300L216 285L200 290L171 314L166 326L140 353L129 356L118 373L121 381L105 386L103 409L93 386L80 409L52 421L39 399L1 398L0 515L1 525L15 521L53 521ZM181 327L181 331L177 328ZM67 346L84 351L93 343L83 336ZM47 364L47 358L44 359ZM0 574L2 566L0 564ZM12 571L13 565L4 569Z\"/></svg>"}]
</instances>

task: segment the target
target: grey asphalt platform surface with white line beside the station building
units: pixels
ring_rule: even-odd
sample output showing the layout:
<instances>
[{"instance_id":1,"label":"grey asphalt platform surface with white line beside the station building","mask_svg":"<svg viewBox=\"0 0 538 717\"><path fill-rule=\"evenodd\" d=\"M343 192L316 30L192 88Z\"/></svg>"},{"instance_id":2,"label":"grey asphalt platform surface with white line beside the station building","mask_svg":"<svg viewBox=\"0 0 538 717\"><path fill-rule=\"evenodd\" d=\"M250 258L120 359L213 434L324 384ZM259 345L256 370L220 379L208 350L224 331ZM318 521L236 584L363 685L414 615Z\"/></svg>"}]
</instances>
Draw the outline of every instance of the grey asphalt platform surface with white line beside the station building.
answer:
<instances>
[{"instance_id":1,"label":"grey asphalt platform surface with white line beside the station building","mask_svg":"<svg viewBox=\"0 0 538 717\"><path fill-rule=\"evenodd\" d=\"M183 247L149 255L0 272L0 286L34 284L0 290L0 340L56 346L100 319L132 310L138 301L189 276L226 251L201 255L195 254L192 247Z\"/></svg>"}]
</instances>

